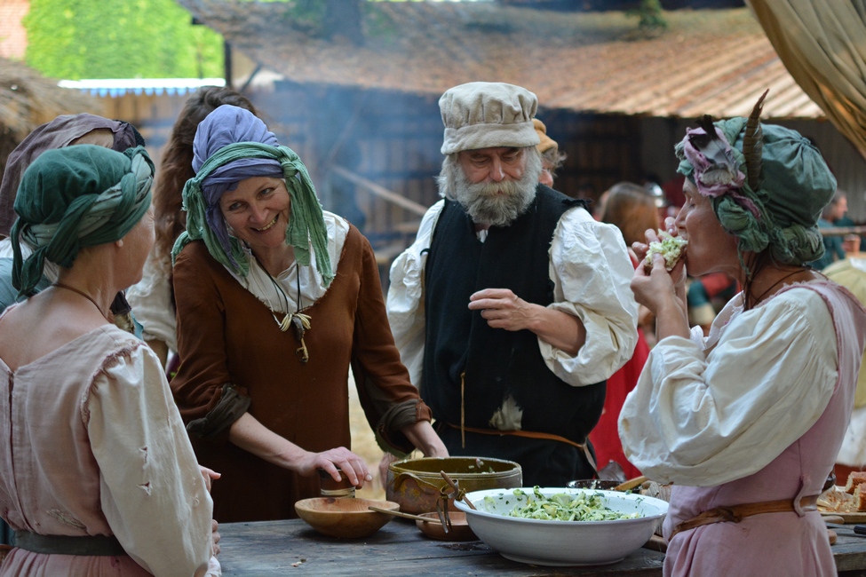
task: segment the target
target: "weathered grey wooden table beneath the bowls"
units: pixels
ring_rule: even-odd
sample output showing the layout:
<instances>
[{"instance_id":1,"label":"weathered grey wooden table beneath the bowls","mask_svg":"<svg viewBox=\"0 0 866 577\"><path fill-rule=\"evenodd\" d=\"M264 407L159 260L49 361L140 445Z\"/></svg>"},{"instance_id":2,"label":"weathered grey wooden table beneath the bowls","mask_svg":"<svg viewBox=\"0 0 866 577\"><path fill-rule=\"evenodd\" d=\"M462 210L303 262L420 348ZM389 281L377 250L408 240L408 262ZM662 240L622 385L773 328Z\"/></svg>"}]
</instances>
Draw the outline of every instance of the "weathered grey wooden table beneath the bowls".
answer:
<instances>
[{"instance_id":1,"label":"weathered grey wooden table beneath the bowls","mask_svg":"<svg viewBox=\"0 0 866 577\"><path fill-rule=\"evenodd\" d=\"M854 526L830 526L838 534L833 554L842 577L866 576L866 537ZM427 539L414 523L394 519L366 539L341 541L314 532L304 521L227 523L219 560L226 575L578 575L650 577L662 574L663 553L639 549L614 565L544 567L500 557L481 541Z\"/></svg>"}]
</instances>

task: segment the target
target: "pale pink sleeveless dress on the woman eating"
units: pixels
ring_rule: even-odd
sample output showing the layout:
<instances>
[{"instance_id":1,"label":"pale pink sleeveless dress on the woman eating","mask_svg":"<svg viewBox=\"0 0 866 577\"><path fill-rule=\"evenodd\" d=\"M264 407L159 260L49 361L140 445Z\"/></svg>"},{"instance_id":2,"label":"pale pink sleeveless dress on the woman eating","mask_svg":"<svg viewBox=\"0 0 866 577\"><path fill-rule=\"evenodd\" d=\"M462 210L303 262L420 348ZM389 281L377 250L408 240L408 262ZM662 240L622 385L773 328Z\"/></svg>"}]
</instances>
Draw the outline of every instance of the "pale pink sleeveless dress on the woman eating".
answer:
<instances>
[{"instance_id":1,"label":"pale pink sleeveless dress on the woman eating","mask_svg":"<svg viewBox=\"0 0 866 577\"><path fill-rule=\"evenodd\" d=\"M799 500L821 493L854 406L866 322L862 307L844 289L826 282L795 286L811 288L822 296L836 328L835 338L842 344L838 346L838 381L830 404L805 435L757 473L720 486L675 485L664 520L665 540L679 522L703 510L747 502ZM836 564L818 512L802 516L769 513L675 535L664 559L664 574L823 576L835 575Z\"/></svg>"}]
</instances>

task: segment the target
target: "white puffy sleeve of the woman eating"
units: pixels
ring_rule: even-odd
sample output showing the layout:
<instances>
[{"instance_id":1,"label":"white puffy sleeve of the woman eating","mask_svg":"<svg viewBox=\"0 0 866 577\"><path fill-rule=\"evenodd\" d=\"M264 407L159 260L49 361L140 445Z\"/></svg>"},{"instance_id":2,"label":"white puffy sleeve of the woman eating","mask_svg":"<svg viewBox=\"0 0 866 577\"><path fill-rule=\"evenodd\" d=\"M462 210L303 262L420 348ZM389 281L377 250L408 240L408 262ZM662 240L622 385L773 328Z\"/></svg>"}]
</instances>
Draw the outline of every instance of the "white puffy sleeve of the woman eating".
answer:
<instances>
[{"instance_id":1,"label":"white puffy sleeve of the woman eating","mask_svg":"<svg viewBox=\"0 0 866 577\"><path fill-rule=\"evenodd\" d=\"M697 327L691 339L659 341L625 399L624 452L648 478L716 486L751 475L830 402L838 355L822 297L795 287L750 311L741 302L742 293L705 340Z\"/></svg>"}]
</instances>

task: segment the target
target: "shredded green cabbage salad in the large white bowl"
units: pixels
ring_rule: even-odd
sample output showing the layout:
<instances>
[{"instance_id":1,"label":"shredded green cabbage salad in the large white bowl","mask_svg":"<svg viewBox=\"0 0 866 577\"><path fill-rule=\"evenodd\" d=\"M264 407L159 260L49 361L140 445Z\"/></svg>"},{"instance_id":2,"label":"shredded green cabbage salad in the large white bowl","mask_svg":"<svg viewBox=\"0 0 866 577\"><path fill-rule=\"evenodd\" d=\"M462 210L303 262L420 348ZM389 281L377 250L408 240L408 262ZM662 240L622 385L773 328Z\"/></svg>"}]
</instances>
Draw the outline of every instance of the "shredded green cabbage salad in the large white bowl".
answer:
<instances>
[{"instance_id":1,"label":"shredded green cabbage salad in the large white bowl","mask_svg":"<svg viewBox=\"0 0 866 577\"><path fill-rule=\"evenodd\" d=\"M610 510L605 505L604 494L584 491L578 494L557 493L545 496L534 487L532 494L521 489L513 492L518 502L526 500L526 503L514 507L507 513L508 517L527 519L542 519L545 521L614 521L617 519L634 519L643 517L637 511L633 513L620 513ZM505 499L504 494L498 497ZM493 497L484 497L488 505L496 506ZM508 504L508 502L505 502Z\"/></svg>"}]
</instances>

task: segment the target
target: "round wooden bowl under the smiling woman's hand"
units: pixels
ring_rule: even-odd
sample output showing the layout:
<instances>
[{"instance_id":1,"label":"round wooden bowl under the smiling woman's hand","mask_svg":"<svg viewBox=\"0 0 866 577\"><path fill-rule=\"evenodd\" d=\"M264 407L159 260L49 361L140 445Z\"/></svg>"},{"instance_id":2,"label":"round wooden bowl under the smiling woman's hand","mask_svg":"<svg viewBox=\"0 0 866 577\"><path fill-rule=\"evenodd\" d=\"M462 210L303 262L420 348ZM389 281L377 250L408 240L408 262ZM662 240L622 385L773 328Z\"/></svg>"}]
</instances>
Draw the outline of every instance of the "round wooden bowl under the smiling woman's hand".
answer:
<instances>
[{"instance_id":1,"label":"round wooden bowl under the smiling woman's hand","mask_svg":"<svg viewBox=\"0 0 866 577\"><path fill-rule=\"evenodd\" d=\"M400 509L400 505L390 501L315 497L296 502L295 511L299 518L323 535L359 539L376 533L392 518L391 515L369 510L370 505L387 510Z\"/></svg>"}]
</instances>

